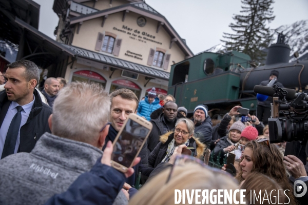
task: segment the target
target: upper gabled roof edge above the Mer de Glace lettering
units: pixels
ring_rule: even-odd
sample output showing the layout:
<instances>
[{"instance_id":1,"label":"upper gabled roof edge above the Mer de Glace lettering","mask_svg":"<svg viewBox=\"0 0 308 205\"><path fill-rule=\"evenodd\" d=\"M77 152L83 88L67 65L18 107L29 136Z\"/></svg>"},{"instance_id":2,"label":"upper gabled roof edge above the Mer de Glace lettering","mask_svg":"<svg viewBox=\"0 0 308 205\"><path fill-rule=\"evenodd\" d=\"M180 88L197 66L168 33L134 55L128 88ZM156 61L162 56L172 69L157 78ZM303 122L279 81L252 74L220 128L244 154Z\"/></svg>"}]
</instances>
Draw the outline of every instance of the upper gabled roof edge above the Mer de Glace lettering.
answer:
<instances>
[{"instance_id":1,"label":"upper gabled roof edge above the Mer de Glace lettering","mask_svg":"<svg viewBox=\"0 0 308 205\"><path fill-rule=\"evenodd\" d=\"M182 49L182 51L184 51L185 55L189 57L194 56L192 51L186 45L185 41L180 37L180 35L176 32L176 30L170 25L170 23L165 18L165 16L161 15L159 12L157 12L155 9L153 9L152 7L150 7L144 2L143 3L139 3L139 2L129 3L129 4L121 5L118 7L113 7L113 8L105 9L102 11L74 17L74 18L71 18L70 24L84 22L86 20L91 20L93 18L99 18L105 15L118 13L118 12L125 11L125 10L131 11L134 13L139 13L143 16L155 19L158 22L163 23L164 25L162 27L167 31L167 33L171 36L171 38L175 37L177 39L176 44Z\"/></svg>"}]
</instances>

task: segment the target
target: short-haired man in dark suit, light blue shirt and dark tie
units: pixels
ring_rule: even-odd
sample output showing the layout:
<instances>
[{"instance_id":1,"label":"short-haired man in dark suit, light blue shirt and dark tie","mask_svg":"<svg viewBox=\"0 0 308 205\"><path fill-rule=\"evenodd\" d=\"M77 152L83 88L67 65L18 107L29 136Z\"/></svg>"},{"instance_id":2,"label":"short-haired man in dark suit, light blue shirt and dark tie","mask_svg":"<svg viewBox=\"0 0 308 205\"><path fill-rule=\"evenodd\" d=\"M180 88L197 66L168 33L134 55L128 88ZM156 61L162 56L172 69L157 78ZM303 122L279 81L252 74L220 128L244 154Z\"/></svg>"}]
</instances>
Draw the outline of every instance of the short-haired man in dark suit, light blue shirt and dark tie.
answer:
<instances>
[{"instance_id":1,"label":"short-haired man in dark suit, light blue shirt and dark tie","mask_svg":"<svg viewBox=\"0 0 308 205\"><path fill-rule=\"evenodd\" d=\"M52 109L35 90L40 71L29 60L8 65L5 91L0 92L0 156L30 152L42 134L50 132Z\"/></svg>"}]
</instances>

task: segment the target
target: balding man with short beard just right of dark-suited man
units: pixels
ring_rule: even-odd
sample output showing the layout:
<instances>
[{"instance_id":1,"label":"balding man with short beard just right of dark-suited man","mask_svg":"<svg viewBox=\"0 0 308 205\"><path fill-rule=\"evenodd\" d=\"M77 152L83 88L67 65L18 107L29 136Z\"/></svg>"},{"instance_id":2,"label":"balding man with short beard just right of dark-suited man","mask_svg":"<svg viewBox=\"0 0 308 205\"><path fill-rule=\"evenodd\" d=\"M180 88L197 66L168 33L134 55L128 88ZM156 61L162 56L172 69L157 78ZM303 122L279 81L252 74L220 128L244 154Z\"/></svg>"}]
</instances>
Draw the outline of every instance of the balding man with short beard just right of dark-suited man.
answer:
<instances>
[{"instance_id":1,"label":"balding man with short beard just right of dark-suited man","mask_svg":"<svg viewBox=\"0 0 308 205\"><path fill-rule=\"evenodd\" d=\"M49 77L45 80L43 95L46 97L48 105L53 107L53 101L56 98L56 94L60 90L60 83L54 77Z\"/></svg>"}]
</instances>

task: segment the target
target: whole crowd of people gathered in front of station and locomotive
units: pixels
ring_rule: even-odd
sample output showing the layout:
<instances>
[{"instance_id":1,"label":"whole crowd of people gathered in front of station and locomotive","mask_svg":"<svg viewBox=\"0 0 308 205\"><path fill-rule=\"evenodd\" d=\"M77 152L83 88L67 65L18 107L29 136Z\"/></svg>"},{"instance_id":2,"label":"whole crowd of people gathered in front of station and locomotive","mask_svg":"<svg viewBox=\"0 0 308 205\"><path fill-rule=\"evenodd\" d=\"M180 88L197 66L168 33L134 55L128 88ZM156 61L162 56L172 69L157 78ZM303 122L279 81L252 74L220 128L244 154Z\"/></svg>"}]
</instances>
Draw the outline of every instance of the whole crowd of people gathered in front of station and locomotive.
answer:
<instances>
[{"instance_id":1,"label":"whole crowd of people gathered in front of station and locomotive","mask_svg":"<svg viewBox=\"0 0 308 205\"><path fill-rule=\"evenodd\" d=\"M294 194L296 181L308 181L305 162L284 156L286 142L271 144L268 126L257 116L242 122L241 106L212 120L207 106L189 111L155 88L141 101L125 88L108 94L99 84L66 84L60 77L37 88L40 71L29 60L8 65L4 76L0 204L173 204L176 189L245 189L247 204L272 204L279 197L280 203L305 204L308 198ZM122 173L111 167L112 142L131 113L147 119L152 130ZM185 158L186 148L191 156ZM218 164L234 153L235 163L221 170L206 166L206 149ZM271 193L271 201L252 203L251 190Z\"/></svg>"}]
</instances>

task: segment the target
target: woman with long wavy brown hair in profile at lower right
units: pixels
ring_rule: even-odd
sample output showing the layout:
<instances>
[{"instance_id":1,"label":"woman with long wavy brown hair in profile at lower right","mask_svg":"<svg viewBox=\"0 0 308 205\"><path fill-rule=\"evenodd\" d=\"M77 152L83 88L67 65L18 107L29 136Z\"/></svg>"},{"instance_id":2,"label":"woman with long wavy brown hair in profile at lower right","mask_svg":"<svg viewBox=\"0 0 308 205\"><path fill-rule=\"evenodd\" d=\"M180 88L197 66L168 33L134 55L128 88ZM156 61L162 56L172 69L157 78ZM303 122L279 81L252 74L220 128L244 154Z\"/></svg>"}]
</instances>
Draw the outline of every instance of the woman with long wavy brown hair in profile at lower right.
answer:
<instances>
[{"instance_id":1,"label":"woman with long wavy brown hair in profile at lower right","mask_svg":"<svg viewBox=\"0 0 308 205\"><path fill-rule=\"evenodd\" d=\"M275 145L269 144L268 139L251 141L245 145L239 171L236 176L239 183L252 172L259 172L273 178L283 190L290 190L286 192L286 195L291 200L290 204L296 204L293 187L288 181L281 152Z\"/></svg>"}]
</instances>

